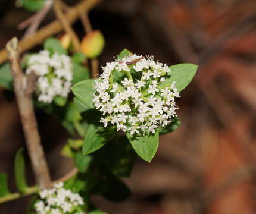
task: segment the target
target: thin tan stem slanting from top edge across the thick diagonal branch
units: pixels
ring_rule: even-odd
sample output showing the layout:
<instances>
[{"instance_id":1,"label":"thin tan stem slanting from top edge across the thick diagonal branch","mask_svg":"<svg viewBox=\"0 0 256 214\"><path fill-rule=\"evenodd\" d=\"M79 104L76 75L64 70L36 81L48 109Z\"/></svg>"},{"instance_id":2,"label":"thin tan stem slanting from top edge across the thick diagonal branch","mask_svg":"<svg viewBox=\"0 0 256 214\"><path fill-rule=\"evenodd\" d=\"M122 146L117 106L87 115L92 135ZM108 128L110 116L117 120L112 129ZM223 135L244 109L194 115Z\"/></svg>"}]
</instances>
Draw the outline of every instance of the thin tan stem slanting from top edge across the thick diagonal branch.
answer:
<instances>
[{"instance_id":1,"label":"thin tan stem slanting from top edge across the thick diagonal branch","mask_svg":"<svg viewBox=\"0 0 256 214\"><path fill-rule=\"evenodd\" d=\"M71 37L71 40L72 40L72 43L74 45L75 51L79 52L80 51L79 38L77 37L77 34L74 32L74 30L70 26L70 23L68 23L67 18L65 17L63 11L61 10L60 1L58 1L58 0L54 1L54 11L55 11L56 17L58 18L61 25L63 26L63 29Z\"/></svg>"}]
</instances>

